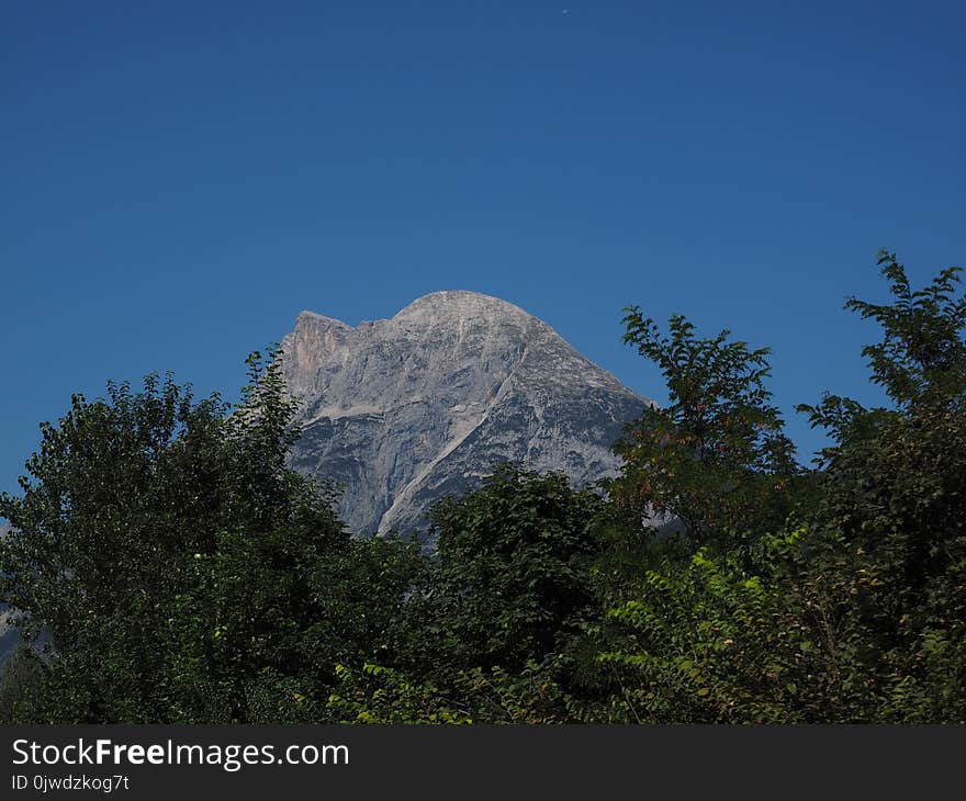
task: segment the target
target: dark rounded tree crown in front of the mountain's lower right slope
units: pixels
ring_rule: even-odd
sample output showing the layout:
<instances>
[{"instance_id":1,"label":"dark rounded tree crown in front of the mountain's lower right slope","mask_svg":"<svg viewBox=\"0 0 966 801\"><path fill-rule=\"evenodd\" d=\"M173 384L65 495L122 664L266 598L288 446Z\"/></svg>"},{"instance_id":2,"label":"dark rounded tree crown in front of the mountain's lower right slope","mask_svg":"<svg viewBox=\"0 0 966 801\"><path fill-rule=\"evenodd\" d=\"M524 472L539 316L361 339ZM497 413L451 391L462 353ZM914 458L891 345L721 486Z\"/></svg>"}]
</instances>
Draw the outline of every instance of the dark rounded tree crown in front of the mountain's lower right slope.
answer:
<instances>
[{"instance_id":1,"label":"dark rounded tree crown in front of the mountain's lower right slope","mask_svg":"<svg viewBox=\"0 0 966 801\"><path fill-rule=\"evenodd\" d=\"M450 647L469 664L541 659L594 609L603 500L559 474L505 466L433 514ZM474 662L475 661L475 662Z\"/></svg>"}]
</instances>

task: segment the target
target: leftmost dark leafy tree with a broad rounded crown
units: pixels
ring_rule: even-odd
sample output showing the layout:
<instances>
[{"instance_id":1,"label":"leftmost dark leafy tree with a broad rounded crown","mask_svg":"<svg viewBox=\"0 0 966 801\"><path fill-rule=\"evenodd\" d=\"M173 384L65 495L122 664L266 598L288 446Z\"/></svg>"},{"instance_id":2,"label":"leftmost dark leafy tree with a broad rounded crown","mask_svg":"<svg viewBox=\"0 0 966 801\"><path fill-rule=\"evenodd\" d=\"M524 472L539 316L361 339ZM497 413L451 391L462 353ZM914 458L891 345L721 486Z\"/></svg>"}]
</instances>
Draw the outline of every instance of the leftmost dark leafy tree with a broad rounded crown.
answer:
<instances>
[{"instance_id":1,"label":"leftmost dark leafy tree with a broad rounded crown","mask_svg":"<svg viewBox=\"0 0 966 801\"><path fill-rule=\"evenodd\" d=\"M141 393L108 393L75 395L59 425L43 424L23 496L0 496L13 524L2 599L29 640L50 632L49 708L79 722L157 717L164 601L184 582L183 554L210 552L234 505L217 396L194 403L154 375Z\"/></svg>"}]
</instances>

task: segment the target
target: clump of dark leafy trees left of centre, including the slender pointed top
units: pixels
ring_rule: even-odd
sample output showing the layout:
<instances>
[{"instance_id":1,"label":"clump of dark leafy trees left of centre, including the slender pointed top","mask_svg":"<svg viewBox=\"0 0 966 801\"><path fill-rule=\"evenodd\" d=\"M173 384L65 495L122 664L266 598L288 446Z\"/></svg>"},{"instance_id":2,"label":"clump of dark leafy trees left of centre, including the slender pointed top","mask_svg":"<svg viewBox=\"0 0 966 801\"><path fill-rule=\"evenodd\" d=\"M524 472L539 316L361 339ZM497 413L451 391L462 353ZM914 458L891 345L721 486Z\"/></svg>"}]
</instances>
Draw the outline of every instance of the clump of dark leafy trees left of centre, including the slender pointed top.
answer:
<instances>
[{"instance_id":1,"label":"clump of dark leafy trees left of centre, including the slender pointed top","mask_svg":"<svg viewBox=\"0 0 966 801\"><path fill-rule=\"evenodd\" d=\"M353 543L285 466L278 356L249 358L235 408L148 376L42 426L23 496L0 498L0 600L50 635L24 719L305 720L338 659L391 650L419 560Z\"/></svg>"}]
</instances>

